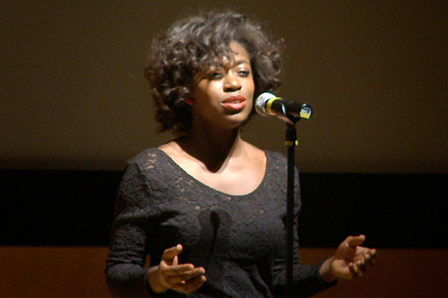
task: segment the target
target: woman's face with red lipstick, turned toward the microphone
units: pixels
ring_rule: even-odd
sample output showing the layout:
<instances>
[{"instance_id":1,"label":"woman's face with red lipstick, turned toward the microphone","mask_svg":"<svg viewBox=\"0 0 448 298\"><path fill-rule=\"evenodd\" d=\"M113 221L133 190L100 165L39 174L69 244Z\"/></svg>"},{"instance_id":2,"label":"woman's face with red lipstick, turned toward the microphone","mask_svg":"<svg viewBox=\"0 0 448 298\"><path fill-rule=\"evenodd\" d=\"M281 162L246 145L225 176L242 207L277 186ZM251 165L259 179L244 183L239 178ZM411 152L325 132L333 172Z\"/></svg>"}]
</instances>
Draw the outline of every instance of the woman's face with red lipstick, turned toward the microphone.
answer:
<instances>
[{"instance_id":1,"label":"woman's face with red lipstick, turned toward the microphone","mask_svg":"<svg viewBox=\"0 0 448 298\"><path fill-rule=\"evenodd\" d=\"M230 48L235 52L232 62L223 63L223 67L210 67L195 77L193 126L236 128L252 111L255 84L249 54L235 41L230 43Z\"/></svg>"}]
</instances>

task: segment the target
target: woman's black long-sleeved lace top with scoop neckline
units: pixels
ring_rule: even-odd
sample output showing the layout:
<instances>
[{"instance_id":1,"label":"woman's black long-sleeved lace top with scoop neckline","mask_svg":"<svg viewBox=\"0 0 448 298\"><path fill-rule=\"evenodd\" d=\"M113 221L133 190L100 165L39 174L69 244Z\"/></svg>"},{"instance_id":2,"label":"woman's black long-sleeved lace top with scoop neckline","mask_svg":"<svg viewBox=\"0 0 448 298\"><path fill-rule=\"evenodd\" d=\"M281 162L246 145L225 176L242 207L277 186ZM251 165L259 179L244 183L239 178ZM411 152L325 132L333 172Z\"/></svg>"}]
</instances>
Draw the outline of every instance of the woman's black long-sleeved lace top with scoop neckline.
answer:
<instances>
[{"instance_id":1,"label":"woman's black long-sleeved lace top with scoop neckline","mask_svg":"<svg viewBox=\"0 0 448 298\"><path fill-rule=\"evenodd\" d=\"M129 160L119 187L107 283L117 297L284 297L287 161L266 152L265 177L245 195L218 192L188 175L166 153L151 148ZM299 183L294 235L300 209ZM179 263L206 269L207 282L191 295L154 294L146 282L146 255L158 265L181 243ZM297 297L329 287L320 263L300 265L294 241Z\"/></svg>"}]
</instances>

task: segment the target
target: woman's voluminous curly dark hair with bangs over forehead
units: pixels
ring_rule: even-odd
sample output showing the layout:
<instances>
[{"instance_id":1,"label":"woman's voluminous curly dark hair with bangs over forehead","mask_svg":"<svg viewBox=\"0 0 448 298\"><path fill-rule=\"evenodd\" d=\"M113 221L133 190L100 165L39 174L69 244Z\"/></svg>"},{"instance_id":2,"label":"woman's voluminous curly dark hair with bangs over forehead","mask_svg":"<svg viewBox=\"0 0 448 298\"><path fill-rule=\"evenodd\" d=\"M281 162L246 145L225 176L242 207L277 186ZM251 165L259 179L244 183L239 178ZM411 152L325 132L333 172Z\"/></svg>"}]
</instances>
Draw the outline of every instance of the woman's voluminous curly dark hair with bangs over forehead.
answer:
<instances>
[{"instance_id":1,"label":"woman's voluminous curly dark hair with bangs over forehead","mask_svg":"<svg viewBox=\"0 0 448 298\"><path fill-rule=\"evenodd\" d=\"M255 98L279 87L281 40L272 38L259 23L232 11L208 12L177 21L153 40L144 69L156 105L156 121L161 124L159 132L188 132L191 106L185 99L191 97L193 77L224 57L231 61L233 40L250 55Z\"/></svg>"}]
</instances>

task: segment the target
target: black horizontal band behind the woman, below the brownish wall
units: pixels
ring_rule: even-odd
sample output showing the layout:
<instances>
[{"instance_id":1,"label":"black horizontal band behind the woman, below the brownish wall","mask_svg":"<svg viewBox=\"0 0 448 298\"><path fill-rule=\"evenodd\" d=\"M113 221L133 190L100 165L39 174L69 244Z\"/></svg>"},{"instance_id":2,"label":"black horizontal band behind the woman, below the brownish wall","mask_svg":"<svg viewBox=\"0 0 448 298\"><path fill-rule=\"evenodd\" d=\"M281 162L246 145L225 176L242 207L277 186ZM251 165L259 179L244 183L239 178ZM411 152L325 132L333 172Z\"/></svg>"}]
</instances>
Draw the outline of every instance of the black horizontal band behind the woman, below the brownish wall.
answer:
<instances>
[{"instance_id":1,"label":"black horizontal band behind the woman, below the brownish wall","mask_svg":"<svg viewBox=\"0 0 448 298\"><path fill-rule=\"evenodd\" d=\"M1 245L109 245L121 171L0 171ZM302 173L302 247L448 248L448 175ZM286 198L285 198L286 199Z\"/></svg>"}]
</instances>

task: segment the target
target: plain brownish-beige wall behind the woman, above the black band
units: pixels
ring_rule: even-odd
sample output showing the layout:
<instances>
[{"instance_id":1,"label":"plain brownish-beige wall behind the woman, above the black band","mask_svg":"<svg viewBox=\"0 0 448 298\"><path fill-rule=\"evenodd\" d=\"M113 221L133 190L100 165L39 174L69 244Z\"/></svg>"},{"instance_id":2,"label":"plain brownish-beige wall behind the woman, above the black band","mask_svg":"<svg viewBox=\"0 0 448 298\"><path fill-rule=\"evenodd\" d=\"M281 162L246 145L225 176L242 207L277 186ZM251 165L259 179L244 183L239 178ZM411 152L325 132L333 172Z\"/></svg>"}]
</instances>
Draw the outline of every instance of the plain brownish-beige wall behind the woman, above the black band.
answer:
<instances>
[{"instance_id":1,"label":"plain brownish-beige wall behind the woman, above the black band","mask_svg":"<svg viewBox=\"0 0 448 298\"><path fill-rule=\"evenodd\" d=\"M213 4L206 4L213 2ZM0 168L121 169L159 145L147 41L188 11L238 7L284 38L277 92L305 172L448 172L447 1L2 1ZM284 151L284 123L245 138Z\"/></svg>"}]
</instances>

